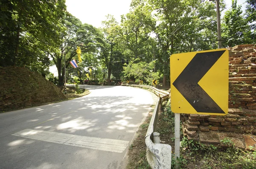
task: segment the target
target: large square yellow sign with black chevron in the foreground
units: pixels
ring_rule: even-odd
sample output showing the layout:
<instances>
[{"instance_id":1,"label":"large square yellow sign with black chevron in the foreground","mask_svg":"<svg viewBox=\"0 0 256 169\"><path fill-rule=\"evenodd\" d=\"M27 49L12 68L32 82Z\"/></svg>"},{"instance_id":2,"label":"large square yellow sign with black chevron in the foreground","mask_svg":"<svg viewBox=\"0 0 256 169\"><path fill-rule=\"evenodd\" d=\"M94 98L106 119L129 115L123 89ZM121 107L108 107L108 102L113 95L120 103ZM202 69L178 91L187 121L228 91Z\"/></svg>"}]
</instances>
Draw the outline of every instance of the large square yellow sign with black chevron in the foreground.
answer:
<instances>
[{"instance_id":1,"label":"large square yellow sign with black chevron in the foreground","mask_svg":"<svg viewBox=\"0 0 256 169\"><path fill-rule=\"evenodd\" d=\"M172 112L227 114L227 49L173 54L170 70Z\"/></svg>"}]
</instances>

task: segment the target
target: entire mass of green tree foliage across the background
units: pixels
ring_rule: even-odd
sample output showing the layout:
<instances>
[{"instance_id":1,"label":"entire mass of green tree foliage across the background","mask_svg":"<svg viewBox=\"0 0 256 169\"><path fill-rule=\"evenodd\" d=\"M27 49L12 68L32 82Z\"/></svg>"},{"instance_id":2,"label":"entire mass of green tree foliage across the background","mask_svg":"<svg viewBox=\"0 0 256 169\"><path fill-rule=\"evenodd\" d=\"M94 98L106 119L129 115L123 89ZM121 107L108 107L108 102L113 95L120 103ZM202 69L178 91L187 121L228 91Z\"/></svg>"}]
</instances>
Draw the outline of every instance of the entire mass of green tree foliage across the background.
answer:
<instances>
[{"instance_id":1,"label":"entire mass of green tree foliage across the background","mask_svg":"<svg viewBox=\"0 0 256 169\"><path fill-rule=\"evenodd\" d=\"M256 2L246 0L245 11L232 0L220 0L223 47L256 43ZM49 74L58 69L67 78L132 79L151 83L169 79L171 54L217 48L216 3L208 0L132 0L118 23L107 15L101 28L81 23L68 13L65 0L1 0L0 66L20 66ZM81 48L78 62L76 48ZM79 68L70 66L75 59ZM149 70L153 70L150 72ZM90 74L90 73L89 73Z\"/></svg>"}]
</instances>

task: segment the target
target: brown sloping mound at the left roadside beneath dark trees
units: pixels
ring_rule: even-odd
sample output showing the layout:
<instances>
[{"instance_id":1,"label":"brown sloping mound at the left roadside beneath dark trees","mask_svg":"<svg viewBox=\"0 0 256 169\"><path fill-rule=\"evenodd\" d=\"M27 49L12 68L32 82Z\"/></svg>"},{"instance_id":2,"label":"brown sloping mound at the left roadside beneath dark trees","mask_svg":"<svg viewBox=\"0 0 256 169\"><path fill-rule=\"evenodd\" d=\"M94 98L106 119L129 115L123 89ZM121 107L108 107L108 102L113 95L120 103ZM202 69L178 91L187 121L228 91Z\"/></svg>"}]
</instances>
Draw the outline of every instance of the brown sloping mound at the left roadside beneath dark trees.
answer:
<instances>
[{"instance_id":1,"label":"brown sloping mound at the left roadside beneath dark trees","mask_svg":"<svg viewBox=\"0 0 256 169\"><path fill-rule=\"evenodd\" d=\"M67 99L61 90L26 68L0 68L0 112Z\"/></svg>"}]
</instances>

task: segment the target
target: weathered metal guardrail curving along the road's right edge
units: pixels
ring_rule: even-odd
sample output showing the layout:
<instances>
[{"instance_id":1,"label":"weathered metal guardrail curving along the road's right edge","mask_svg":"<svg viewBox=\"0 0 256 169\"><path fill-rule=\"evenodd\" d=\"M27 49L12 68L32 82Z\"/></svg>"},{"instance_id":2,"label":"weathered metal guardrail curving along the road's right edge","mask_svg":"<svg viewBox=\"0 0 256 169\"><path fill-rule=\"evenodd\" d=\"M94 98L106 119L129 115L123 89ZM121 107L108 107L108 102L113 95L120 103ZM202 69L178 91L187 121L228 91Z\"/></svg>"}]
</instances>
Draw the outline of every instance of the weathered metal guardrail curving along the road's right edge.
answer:
<instances>
[{"instance_id":1,"label":"weathered metal guardrail curving along the road's right edge","mask_svg":"<svg viewBox=\"0 0 256 169\"><path fill-rule=\"evenodd\" d=\"M169 93L158 90L155 87L145 85L127 85L135 87L151 88L159 95L159 100L154 109L151 121L148 125L148 130L145 135L145 144L147 146L147 161L152 169L171 169L172 164L172 147L169 144L160 144L159 133L157 133L157 121L160 105L163 99L169 98ZM152 141L153 140L153 141Z\"/></svg>"}]
</instances>

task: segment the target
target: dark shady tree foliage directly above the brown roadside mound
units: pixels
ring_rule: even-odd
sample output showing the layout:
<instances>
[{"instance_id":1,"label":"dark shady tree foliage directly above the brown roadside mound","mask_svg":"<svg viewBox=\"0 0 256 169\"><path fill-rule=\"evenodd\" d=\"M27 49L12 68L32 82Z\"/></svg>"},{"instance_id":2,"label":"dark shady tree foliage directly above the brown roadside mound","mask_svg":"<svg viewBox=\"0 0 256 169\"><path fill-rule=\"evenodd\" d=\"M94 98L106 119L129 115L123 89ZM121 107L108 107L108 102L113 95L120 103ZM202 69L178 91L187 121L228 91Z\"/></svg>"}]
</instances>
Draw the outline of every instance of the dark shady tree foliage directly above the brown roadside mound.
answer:
<instances>
[{"instance_id":1,"label":"dark shady tree foliage directly above the brown roadside mound","mask_svg":"<svg viewBox=\"0 0 256 169\"><path fill-rule=\"evenodd\" d=\"M65 1L2 0L0 6L0 66L49 66L46 53L61 42Z\"/></svg>"}]
</instances>

